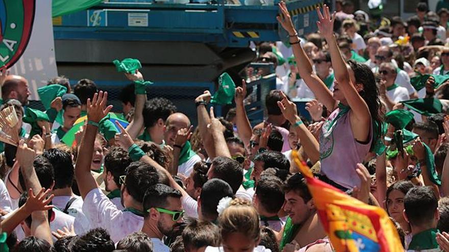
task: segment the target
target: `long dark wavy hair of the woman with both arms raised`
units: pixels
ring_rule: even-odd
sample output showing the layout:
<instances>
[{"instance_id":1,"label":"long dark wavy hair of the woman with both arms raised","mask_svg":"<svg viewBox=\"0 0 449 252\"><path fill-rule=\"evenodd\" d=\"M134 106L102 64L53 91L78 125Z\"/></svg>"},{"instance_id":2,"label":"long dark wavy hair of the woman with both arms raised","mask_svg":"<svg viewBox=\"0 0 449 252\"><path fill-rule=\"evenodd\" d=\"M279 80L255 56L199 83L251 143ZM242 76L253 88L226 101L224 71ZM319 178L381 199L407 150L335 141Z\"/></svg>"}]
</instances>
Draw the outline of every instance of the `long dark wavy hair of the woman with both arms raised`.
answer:
<instances>
[{"instance_id":1,"label":"long dark wavy hair of the woman with both arms raised","mask_svg":"<svg viewBox=\"0 0 449 252\"><path fill-rule=\"evenodd\" d=\"M371 69L365 65L355 61L347 62L351 69L354 71L356 77L356 83L363 85L363 90L359 92L359 95L365 100L368 105L369 114L371 114L371 122L373 125L371 149L378 142L382 135L382 116L380 114L381 101L379 98L379 90L376 85L376 78Z\"/></svg>"}]
</instances>

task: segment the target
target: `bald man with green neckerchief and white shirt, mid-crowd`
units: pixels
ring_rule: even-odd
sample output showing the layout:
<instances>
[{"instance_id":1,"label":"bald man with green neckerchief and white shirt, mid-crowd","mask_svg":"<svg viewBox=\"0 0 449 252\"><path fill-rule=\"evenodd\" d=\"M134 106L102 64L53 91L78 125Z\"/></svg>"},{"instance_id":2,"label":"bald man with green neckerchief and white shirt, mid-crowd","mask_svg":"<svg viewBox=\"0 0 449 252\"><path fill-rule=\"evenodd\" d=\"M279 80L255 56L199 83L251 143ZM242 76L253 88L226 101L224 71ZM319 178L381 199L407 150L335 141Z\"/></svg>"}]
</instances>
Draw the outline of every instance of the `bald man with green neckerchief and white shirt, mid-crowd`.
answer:
<instances>
[{"instance_id":1,"label":"bald man with green neckerchief and white shirt, mid-crowd","mask_svg":"<svg viewBox=\"0 0 449 252\"><path fill-rule=\"evenodd\" d=\"M190 127L189 118L182 113L171 114L164 127L164 141L166 145L173 148L173 159L178 157L178 174L188 177L193 170L193 165L201 161L201 157L196 155L187 141L183 146L174 143L178 130Z\"/></svg>"}]
</instances>

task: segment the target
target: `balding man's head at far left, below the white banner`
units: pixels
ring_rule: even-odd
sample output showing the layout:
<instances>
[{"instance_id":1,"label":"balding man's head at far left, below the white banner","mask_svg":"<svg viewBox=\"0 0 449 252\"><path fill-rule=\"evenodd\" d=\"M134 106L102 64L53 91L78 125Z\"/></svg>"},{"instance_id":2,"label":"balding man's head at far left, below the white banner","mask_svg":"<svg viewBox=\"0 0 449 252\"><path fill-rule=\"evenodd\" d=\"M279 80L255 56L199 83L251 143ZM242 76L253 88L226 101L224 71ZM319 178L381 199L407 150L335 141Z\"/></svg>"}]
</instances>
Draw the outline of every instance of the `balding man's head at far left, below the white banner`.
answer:
<instances>
[{"instance_id":1,"label":"balding man's head at far left, below the white banner","mask_svg":"<svg viewBox=\"0 0 449 252\"><path fill-rule=\"evenodd\" d=\"M8 75L2 85L2 99L16 99L22 106L28 105L30 89L27 79L19 75Z\"/></svg>"}]
</instances>

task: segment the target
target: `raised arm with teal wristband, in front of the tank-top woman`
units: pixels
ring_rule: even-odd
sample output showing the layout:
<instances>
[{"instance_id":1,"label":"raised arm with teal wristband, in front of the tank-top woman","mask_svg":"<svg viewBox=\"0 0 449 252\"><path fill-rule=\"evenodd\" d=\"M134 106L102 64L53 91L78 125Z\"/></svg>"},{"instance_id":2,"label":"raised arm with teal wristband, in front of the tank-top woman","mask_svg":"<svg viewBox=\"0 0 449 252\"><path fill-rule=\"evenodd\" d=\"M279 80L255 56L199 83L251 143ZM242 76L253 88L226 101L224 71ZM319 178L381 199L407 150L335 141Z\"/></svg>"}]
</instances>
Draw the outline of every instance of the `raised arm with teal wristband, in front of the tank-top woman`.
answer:
<instances>
[{"instance_id":1,"label":"raised arm with teal wristband, in front of the tank-top woman","mask_svg":"<svg viewBox=\"0 0 449 252\"><path fill-rule=\"evenodd\" d=\"M282 93L282 101L278 101L278 106L281 108L284 117L294 125L298 138L301 140L301 144L304 147L304 151L310 158L312 163L316 163L319 160L319 144L316 141L313 134L307 129L306 125L301 121L296 110L296 104L289 101L287 96Z\"/></svg>"}]
</instances>

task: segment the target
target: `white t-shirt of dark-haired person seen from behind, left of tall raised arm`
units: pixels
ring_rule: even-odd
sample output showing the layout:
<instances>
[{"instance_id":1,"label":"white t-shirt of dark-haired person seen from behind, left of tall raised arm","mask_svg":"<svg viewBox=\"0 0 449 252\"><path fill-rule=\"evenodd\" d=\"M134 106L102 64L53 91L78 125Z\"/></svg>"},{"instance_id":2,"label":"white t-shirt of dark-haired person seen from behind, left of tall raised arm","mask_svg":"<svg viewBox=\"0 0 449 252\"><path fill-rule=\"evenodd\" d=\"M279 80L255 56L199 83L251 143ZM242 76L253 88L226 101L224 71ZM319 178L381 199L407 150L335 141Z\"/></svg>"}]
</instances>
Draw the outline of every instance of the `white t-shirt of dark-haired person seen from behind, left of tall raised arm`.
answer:
<instances>
[{"instance_id":1,"label":"white t-shirt of dark-haired person seen from behind, left of tall raised arm","mask_svg":"<svg viewBox=\"0 0 449 252\"><path fill-rule=\"evenodd\" d=\"M75 218L73 228L78 235L84 234L90 230L90 222L83 213L83 199L79 196L55 196L52 204L60 210L64 210L71 198L76 198L75 201L67 209L67 214ZM70 227L68 227L70 228Z\"/></svg>"}]
</instances>

